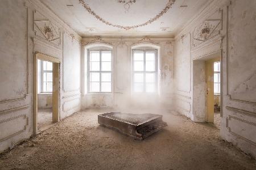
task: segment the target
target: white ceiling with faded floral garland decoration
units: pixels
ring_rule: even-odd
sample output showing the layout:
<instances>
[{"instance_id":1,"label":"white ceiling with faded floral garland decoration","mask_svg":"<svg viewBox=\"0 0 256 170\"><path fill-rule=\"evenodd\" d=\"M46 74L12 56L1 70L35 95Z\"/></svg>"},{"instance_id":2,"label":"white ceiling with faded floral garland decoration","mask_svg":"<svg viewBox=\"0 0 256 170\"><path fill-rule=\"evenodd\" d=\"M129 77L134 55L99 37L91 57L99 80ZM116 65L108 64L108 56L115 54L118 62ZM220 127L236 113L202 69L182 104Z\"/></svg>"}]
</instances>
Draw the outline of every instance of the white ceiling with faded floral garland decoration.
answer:
<instances>
[{"instance_id":1,"label":"white ceiling with faded floral garland decoration","mask_svg":"<svg viewBox=\"0 0 256 170\"><path fill-rule=\"evenodd\" d=\"M40 0L82 37L89 36L159 36L174 37L210 0L176 0L171 8L142 27L123 29L106 25L79 0ZM158 15L169 0L135 0L131 4L117 0L82 0L94 14L114 25L133 26L146 23ZM128 2L128 0L122 0ZM134 0L132 0L134 1Z\"/></svg>"}]
</instances>

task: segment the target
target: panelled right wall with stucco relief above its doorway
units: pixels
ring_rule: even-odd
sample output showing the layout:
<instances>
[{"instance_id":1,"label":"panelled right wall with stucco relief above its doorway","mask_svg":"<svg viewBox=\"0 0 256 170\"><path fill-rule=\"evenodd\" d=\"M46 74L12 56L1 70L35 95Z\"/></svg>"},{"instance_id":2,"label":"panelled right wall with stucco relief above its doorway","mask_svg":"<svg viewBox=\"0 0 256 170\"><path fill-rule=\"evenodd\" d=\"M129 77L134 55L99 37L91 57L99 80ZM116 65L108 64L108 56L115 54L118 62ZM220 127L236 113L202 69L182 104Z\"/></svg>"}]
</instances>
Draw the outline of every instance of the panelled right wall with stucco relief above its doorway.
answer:
<instances>
[{"instance_id":1,"label":"panelled right wall with stucco relief above its doorway","mask_svg":"<svg viewBox=\"0 0 256 170\"><path fill-rule=\"evenodd\" d=\"M205 59L214 53L221 54L223 116L221 137L254 156L256 156L255 11L254 0L210 2L175 37L174 69L176 110L194 121L205 121L202 117L197 118L197 111L202 111L200 107L203 104L199 103L204 100L205 95L197 96L199 91L195 80L200 74L194 71L200 68L193 67L196 66L198 59ZM210 25L210 33L207 39L202 41L200 31L207 23Z\"/></svg>"}]
</instances>

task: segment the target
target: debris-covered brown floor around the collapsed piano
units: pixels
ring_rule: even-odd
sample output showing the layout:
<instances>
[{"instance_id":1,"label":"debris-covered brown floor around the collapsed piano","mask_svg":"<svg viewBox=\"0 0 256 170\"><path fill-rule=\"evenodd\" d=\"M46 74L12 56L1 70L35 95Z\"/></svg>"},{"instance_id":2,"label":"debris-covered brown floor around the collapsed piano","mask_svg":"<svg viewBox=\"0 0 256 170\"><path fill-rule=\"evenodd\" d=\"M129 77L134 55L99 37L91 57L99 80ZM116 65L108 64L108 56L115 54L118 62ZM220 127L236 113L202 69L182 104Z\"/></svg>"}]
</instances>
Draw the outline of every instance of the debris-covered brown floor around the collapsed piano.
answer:
<instances>
[{"instance_id":1,"label":"debris-covered brown floor around the collapsed piano","mask_svg":"<svg viewBox=\"0 0 256 170\"><path fill-rule=\"evenodd\" d=\"M0 169L256 169L256 161L222 141L213 124L167 113L166 128L136 141L99 126L97 114L104 112L66 118L2 154Z\"/></svg>"}]
</instances>

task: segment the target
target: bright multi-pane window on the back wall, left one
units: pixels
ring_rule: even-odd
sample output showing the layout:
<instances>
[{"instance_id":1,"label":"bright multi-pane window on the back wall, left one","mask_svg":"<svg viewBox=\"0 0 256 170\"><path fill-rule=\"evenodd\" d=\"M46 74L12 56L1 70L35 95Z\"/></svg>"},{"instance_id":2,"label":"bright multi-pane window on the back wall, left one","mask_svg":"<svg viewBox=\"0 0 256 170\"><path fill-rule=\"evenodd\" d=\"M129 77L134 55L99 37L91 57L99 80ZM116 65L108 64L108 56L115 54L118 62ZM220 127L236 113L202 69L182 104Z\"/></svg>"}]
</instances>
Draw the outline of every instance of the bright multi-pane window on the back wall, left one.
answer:
<instances>
[{"instance_id":1,"label":"bright multi-pane window on the back wall, left one","mask_svg":"<svg viewBox=\"0 0 256 170\"><path fill-rule=\"evenodd\" d=\"M112 92L112 52L108 50L89 50L88 92Z\"/></svg>"}]
</instances>

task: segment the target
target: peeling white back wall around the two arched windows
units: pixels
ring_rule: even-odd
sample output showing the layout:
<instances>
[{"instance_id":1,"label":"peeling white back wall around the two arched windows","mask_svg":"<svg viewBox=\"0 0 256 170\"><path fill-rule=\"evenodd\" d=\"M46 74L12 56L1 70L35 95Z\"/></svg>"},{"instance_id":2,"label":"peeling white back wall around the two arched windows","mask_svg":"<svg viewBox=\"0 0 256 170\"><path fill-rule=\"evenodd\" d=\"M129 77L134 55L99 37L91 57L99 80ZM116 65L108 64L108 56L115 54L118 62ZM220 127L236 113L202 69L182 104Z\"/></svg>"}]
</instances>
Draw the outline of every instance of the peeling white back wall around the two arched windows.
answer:
<instances>
[{"instance_id":1,"label":"peeling white back wall around the two arched windows","mask_svg":"<svg viewBox=\"0 0 256 170\"><path fill-rule=\"evenodd\" d=\"M82 107L114 107L125 109L130 107L159 107L172 105L172 71L173 71L173 39L82 39L84 49L84 75L82 83L86 88L86 48L93 44L105 44L113 48L113 92L112 94L84 94ZM141 45L141 46L139 46ZM133 48L158 48L159 50L159 95L133 95L131 93L131 50Z\"/></svg>"}]
</instances>

